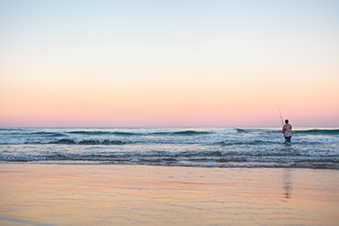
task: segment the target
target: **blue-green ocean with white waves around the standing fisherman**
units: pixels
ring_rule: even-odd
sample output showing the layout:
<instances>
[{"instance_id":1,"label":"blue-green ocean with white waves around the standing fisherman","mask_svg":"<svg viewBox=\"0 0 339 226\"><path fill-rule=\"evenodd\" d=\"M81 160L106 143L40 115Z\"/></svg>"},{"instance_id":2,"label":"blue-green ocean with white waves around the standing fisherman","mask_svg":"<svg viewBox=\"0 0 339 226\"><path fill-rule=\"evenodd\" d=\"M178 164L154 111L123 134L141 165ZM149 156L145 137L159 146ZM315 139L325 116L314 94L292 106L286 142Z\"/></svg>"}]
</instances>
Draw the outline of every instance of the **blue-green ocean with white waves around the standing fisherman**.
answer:
<instances>
[{"instance_id":1,"label":"blue-green ocean with white waves around the standing fisherman","mask_svg":"<svg viewBox=\"0 0 339 226\"><path fill-rule=\"evenodd\" d=\"M0 128L0 163L339 169L338 128Z\"/></svg>"}]
</instances>

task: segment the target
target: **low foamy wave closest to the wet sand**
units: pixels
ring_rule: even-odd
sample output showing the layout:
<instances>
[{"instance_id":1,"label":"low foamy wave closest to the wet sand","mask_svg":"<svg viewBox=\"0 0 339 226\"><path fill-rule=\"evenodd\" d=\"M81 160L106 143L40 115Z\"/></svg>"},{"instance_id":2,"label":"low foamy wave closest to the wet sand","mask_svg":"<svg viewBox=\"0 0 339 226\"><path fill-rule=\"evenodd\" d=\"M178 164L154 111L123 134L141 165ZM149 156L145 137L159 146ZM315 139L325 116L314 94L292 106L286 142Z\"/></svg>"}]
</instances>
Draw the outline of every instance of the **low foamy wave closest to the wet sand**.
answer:
<instances>
[{"instance_id":1,"label":"low foamy wave closest to the wet sand","mask_svg":"<svg viewBox=\"0 0 339 226\"><path fill-rule=\"evenodd\" d=\"M316 154L281 148L265 151L147 151L103 153L53 153L42 155L0 154L5 162L52 162L57 164L175 165L197 167L323 167L339 169L339 154L321 151Z\"/></svg>"}]
</instances>

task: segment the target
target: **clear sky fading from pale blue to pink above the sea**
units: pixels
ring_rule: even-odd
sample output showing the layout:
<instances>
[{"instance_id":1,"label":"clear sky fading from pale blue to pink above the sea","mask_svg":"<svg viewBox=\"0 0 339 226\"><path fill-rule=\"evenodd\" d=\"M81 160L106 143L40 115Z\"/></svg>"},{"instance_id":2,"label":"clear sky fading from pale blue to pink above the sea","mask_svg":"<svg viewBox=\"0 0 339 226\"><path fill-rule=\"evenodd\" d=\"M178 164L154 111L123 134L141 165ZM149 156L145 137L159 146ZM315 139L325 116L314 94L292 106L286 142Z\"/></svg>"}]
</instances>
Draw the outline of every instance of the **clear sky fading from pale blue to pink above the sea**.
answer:
<instances>
[{"instance_id":1,"label":"clear sky fading from pale blue to pink above the sea","mask_svg":"<svg viewBox=\"0 0 339 226\"><path fill-rule=\"evenodd\" d=\"M0 127L339 127L339 1L0 0Z\"/></svg>"}]
</instances>

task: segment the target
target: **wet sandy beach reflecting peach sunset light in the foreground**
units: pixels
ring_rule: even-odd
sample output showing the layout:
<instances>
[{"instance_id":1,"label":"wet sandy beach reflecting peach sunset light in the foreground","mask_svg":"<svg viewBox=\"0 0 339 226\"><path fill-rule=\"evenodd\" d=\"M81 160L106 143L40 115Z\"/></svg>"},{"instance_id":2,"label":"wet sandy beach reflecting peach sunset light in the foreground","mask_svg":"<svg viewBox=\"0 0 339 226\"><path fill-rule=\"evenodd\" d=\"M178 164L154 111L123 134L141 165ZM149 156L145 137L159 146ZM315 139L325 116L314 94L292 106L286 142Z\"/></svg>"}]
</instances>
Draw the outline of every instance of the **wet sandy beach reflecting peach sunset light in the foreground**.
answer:
<instances>
[{"instance_id":1,"label":"wet sandy beach reflecting peach sunset light in the foreground","mask_svg":"<svg viewBox=\"0 0 339 226\"><path fill-rule=\"evenodd\" d=\"M0 225L338 225L339 171L0 165Z\"/></svg>"}]
</instances>

